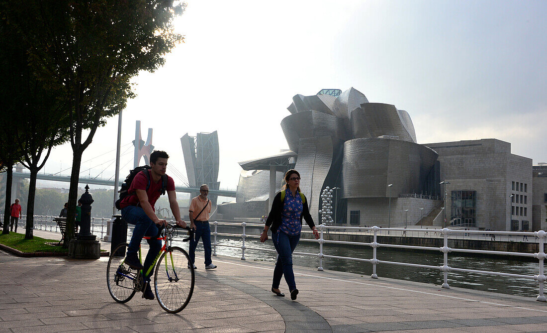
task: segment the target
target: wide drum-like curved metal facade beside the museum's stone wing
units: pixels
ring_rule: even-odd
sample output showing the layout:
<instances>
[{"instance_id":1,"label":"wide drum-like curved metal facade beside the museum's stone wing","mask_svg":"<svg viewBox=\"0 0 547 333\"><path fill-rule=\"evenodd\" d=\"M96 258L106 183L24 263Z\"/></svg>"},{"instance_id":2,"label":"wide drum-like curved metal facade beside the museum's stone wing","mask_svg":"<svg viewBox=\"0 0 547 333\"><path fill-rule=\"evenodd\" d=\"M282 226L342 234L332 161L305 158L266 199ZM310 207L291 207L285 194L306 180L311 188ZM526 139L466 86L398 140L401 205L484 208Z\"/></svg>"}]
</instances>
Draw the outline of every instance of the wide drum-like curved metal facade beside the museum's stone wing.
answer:
<instances>
[{"instance_id":1,"label":"wide drum-like curved metal facade beside the museum's stone wing","mask_svg":"<svg viewBox=\"0 0 547 333\"><path fill-rule=\"evenodd\" d=\"M344 198L392 197L425 190L427 175L438 154L414 142L391 139L353 139L344 143Z\"/></svg>"}]
</instances>

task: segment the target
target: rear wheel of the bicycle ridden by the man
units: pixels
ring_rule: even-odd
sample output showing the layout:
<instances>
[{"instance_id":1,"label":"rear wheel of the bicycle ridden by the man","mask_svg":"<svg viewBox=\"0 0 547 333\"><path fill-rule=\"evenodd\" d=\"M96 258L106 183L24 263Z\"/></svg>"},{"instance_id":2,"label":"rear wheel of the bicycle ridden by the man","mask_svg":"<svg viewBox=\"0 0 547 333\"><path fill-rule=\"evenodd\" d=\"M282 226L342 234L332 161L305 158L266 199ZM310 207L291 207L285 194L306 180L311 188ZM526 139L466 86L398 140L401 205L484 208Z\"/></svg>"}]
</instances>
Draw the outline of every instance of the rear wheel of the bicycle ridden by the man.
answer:
<instances>
[{"instance_id":1,"label":"rear wheel of the bicycle ridden by the man","mask_svg":"<svg viewBox=\"0 0 547 333\"><path fill-rule=\"evenodd\" d=\"M110 254L106 268L106 283L110 296L118 303L125 303L135 295L135 283L138 281L138 271L131 269L125 260L125 249L129 246L123 243Z\"/></svg>"}]
</instances>

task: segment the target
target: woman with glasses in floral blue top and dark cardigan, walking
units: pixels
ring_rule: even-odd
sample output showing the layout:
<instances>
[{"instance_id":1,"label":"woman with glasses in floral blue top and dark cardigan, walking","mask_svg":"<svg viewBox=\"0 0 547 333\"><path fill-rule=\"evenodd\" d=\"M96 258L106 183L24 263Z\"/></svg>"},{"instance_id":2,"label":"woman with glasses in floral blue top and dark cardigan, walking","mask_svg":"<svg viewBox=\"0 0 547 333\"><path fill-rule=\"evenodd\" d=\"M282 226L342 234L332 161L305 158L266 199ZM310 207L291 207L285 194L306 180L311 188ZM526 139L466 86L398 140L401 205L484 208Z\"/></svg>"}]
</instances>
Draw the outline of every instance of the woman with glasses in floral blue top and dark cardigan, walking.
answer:
<instances>
[{"instance_id":1,"label":"woman with glasses in floral blue top and dark cardigan, walking","mask_svg":"<svg viewBox=\"0 0 547 333\"><path fill-rule=\"evenodd\" d=\"M281 276L289 286L290 299L296 300L298 289L294 282L293 251L300 240L302 229L302 217L313 231L315 239L319 238L319 232L313 224L308 208L308 202L304 193L300 192L300 174L296 170L289 170L285 174L285 185L281 192L277 193L272 203L270 214L266 220L264 231L260 235L260 242L268 239L268 229L272 229L272 242L279 256L274 269L272 292L277 296L285 296L279 290Z\"/></svg>"}]
</instances>

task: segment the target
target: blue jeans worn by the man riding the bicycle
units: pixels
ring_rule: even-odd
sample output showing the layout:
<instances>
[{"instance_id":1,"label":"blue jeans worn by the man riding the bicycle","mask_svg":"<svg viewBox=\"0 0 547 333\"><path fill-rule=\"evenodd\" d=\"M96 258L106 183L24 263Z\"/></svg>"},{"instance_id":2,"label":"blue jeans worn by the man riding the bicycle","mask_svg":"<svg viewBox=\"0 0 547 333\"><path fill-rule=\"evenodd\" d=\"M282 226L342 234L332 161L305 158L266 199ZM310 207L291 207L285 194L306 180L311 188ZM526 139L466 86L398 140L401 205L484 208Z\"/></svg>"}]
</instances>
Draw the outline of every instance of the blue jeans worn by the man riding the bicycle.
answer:
<instances>
[{"instance_id":1,"label":"blue jeans worn by the man riding the bicycle","mask_svg":"<svg viewBox=\"0 0 547 333\"><path fill-rule=\"evenodd\" d=\"M135 225L133 229L133 236L131 236L131 241L129 242L129 247L127 248L127 255L136 255L139 247L141 246L141 240L144 236L155 237L158 236L158 226L156 223L144 213L144 210L141 207L137 206L127 206L121 209L121 217L132 225ZM147 239L150 249L144 259L144 274L148 271L156 256L158 256L161 250L161 240L159 239ZM154 269L150 271L150 274L145 278L147 281L150 281L150 277L154 274Z\"/></svg>"}]
</instances>

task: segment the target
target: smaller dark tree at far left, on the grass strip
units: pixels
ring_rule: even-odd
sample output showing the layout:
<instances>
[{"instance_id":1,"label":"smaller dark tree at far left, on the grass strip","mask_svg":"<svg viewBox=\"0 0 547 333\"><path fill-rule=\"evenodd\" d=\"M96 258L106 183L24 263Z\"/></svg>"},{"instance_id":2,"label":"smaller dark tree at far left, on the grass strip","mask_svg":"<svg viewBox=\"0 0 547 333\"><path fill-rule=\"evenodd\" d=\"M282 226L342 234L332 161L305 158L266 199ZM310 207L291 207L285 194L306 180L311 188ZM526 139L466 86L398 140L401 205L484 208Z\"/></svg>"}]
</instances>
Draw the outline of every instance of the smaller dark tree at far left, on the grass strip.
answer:
<instances>
[{"instance_id":1,"label":"smaller dark tree at far left, on the grass strip","mask_svg":"<svg viewBox=\"0 0 547 333\"><path fill-rule=\"evenodd\" d=\"M13 141L8 147L19 148L21 164L30 171L25 239L32 239L37 174L51 148L68 139L67 104L32 71L28 53L32 45L18 25L3 20L2 40L7 45L2 52L2 82L4 99L9 100L4 105L7 114L14 118L10 124Z\"/></svg>"}]
</instances>

